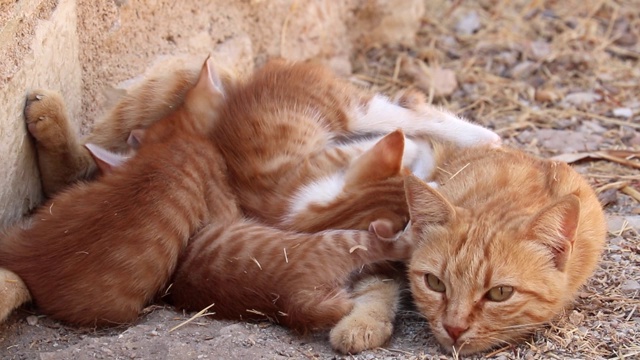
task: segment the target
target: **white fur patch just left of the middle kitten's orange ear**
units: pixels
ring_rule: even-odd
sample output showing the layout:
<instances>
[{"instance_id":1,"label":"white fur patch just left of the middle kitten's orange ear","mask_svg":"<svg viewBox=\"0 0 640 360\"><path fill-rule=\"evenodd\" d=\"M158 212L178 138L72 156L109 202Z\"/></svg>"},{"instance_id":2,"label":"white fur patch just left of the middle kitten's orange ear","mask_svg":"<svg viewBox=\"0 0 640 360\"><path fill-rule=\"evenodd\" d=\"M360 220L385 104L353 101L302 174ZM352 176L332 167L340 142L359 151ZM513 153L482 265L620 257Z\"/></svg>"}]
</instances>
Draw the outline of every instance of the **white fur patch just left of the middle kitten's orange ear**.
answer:
<instances>
[{"instance_id":1,"label":"white fur patch just left of the middle kitten's orange ear","mask_svg":"<svg viewBox=\"0 0 640 360\"><path fill-rule=\"evenodd\" d=\"M289 206L288 218L293 219L304 212L311 204L328 204L342 192L344 174L338 173L303 186L293 196Z\"/></svg>"}]
</instances>

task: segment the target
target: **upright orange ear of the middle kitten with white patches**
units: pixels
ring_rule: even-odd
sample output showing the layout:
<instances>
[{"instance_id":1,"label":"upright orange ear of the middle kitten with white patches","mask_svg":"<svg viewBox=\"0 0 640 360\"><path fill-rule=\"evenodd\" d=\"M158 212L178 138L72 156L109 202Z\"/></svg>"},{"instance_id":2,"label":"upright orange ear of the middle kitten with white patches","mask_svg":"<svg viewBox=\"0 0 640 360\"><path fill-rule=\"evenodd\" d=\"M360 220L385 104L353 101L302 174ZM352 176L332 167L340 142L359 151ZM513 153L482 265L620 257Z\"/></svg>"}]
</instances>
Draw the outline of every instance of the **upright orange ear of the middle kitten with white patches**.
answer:
<instances>
[{"instance_id":1,"label":"upright orange ear of the middle kitten with white patches","mask_svg":"<svg viewBox=\"0 0 640 360\"><path fill-rule=\"evenodd\" d=\"M384 136L349 165L345 175L345 188L400 175L403 153L402 130Z\"/></svg>"}]
</instances>

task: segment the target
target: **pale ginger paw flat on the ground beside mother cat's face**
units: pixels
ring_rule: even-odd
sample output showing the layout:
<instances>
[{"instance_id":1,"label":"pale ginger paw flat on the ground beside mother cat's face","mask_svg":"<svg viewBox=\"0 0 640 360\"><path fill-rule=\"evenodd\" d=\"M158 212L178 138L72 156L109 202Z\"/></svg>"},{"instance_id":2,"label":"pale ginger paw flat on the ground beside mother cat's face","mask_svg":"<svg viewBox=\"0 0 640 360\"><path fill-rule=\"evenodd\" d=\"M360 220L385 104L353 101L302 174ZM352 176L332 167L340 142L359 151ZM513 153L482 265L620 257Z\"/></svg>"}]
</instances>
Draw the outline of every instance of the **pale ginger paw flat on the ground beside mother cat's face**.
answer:
<instances>
[{"instance_id":1,"label":"pale ginger paw flat on the ground beside mother cat's face","mask_svg":"<svg viewBox=\"0 0 640 360\"><path fill-rule=\"evenodd\" d=\"M355 354L383 346L393 334L393 324L372 316L352 314L331 329L331 346L343 354Z\"/></svg>"}]
</instances>

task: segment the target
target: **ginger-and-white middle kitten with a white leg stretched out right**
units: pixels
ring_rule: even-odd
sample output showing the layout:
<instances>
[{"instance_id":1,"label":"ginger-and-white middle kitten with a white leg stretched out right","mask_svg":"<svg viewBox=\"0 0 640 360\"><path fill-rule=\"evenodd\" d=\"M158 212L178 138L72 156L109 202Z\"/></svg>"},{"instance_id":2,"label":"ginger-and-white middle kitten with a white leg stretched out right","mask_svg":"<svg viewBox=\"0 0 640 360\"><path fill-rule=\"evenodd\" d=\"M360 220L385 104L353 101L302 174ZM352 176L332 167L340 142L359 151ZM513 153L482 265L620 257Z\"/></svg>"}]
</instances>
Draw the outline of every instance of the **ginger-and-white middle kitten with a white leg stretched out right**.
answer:
<instances>
[{"instance_id":1,"label":"ginger-and-white middle kitten with a white leg stretched out right","mask_svg":"<svg viewBox=\"0 0 640 360\"><path fill-rule=\"evenodd\" d=\"M415 94L396 104L315 64L272 61L234 85L214 141L245 213L281 228L367 229L387 219L393 232L400 231L408 220L401 191L393 190L402 188L401 170L426 178L433 154L428 141L390 140L376 147L396 129L460 147L500 141L434 107L408 108L404 103ZM344 140L358 135L368 137ZM360 159L365 152L372 159Z\"/></svg>"}]
</instances>

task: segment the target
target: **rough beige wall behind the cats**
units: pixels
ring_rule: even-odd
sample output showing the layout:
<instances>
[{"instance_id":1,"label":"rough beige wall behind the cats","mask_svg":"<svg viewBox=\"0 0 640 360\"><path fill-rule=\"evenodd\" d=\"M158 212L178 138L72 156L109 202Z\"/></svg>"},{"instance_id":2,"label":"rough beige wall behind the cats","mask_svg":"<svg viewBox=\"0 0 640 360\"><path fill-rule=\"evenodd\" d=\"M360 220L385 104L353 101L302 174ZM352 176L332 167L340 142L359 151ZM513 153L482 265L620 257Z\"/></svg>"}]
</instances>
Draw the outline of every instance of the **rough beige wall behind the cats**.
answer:
<instances>
[{"instance_id":1,"label":"rough beige wall behind the cats","mask_svg":"<svg viewBox=\"0 0 640 360\"><path fill-rule=\"evenodd\" d=\"M42 200L28 89L60 91L86 133L106 89L155 65L213 54L248 72L283 56L348 74L357 48L411 43L423 14L423 0L0 0L0 229Z\"/></svg>"}]
</instances>

